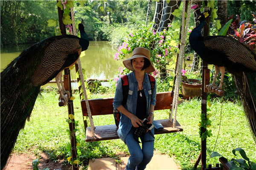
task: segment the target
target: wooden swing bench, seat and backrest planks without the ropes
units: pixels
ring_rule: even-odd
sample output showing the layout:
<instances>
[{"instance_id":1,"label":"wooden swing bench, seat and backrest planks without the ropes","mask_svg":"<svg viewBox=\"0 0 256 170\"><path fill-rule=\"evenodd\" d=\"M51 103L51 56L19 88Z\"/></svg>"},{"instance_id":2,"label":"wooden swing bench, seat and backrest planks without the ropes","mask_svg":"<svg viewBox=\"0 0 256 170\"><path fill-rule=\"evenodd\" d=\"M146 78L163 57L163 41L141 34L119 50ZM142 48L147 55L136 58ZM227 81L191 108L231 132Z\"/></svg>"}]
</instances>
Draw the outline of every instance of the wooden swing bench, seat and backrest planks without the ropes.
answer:
<instances>
[{"instance_id":1,"label":"wooden swing bench, seat and backrest planks without the ropes","mask_svg":"<svg viewBox=\"0 0 256 170\"><path fill-rule=\"evenodd\" d=\"M165 110L165 109L172 108L172 100L173 100L172 92L157 93L156 99L157 99L157 102L154 110ZM88 99L88 102L90 105L90 111L92 116L113 114L113 97L100 98L100 99ZM81 100L81 108L82 108L83 116L88 116L85 100ZM163 130L155 129L155 134L174 133L174 132L183 131L183 128L180 126L177 120L176 120L175 128L172 127L173 124L169 120L170 119L158 120L163 125L164 128ZM87 122L86 120L84 120L86 142L119 139L116 132L117 130L116 125L95 126L94 138L92 137L91 127L86 127L86 125L87 125Z\"/></svg>"}]
</instances>

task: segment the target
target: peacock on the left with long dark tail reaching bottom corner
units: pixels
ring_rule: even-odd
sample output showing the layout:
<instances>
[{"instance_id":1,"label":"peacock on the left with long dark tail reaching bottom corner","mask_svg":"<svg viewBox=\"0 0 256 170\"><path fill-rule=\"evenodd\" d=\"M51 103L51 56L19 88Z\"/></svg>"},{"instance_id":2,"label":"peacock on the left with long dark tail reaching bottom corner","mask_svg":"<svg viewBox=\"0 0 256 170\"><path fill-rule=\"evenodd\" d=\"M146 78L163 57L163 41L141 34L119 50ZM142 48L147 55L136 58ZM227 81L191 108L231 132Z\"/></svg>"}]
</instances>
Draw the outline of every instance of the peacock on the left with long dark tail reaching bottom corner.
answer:
<instances>
[{"instance_id":1,"label":"peacock on the left with long dark tail reaching bottom corner","mask_svg":"<svg viewBox=\"0 0 256 170\"><path fill-rule=\"evenodd\" d=\"M21 128L29 119L41 85L56 77L60 97L63 94L62 71L74 65L89 40L83 24L81 38L60 35L46 38L24 50L1 73L1 170L15 145Z\"/></svg>"}]
</instances>

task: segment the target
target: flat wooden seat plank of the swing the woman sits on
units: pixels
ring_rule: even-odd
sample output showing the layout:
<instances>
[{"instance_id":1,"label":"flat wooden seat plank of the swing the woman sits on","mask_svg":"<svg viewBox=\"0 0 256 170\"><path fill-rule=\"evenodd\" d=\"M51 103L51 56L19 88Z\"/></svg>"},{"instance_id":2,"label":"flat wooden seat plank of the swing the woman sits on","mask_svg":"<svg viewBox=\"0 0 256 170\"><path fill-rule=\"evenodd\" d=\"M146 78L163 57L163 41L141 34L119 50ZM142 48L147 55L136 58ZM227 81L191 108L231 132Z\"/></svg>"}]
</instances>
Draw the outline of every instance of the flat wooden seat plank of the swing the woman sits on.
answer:
<instances>
[{"instance_id":1,"label":"flat wooden seat plank of the swing the woman sits on","mask_svg":"<svg viewBox=\"0 0 256 170\"><path fill-rule=\"evenodd\" d=\"M179 122L176 120L176 127L172 128L172 122L169 122L169 119L158 120L163 125L163 130L155 130L155 134L163 134L163 133L174 133L181 132L183 128L180 126ZM92 139L91 128L86 128L86 142L93 141L102 141L102 140L111 140L111 139L119 139L117 135L117 127L116 125L103 125L96 126L94 133L95 138Z\"/></svg>"}]
</instances>

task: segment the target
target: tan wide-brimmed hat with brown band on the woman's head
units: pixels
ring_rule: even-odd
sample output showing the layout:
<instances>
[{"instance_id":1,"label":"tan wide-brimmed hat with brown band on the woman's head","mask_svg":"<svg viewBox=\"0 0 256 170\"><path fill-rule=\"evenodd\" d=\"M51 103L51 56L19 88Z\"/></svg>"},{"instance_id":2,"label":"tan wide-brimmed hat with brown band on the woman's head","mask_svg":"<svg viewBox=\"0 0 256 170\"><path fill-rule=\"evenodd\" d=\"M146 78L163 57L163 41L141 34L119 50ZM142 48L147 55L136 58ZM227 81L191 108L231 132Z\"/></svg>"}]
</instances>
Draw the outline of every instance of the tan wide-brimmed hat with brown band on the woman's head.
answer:
<instances>
[{"instance_id":1,"label":"tan wide-brimmed hat with brown band on the woman's head","mask_svg":"<svg viewBox=\"0 0 256 170\"><path fill-rule=\"evenodd\" d=\"M150 62L149 67L145 69L146 73L151 73L151 72L155 71L154 66L152 65L152 63L150 61L150 51L147 48L143 48L143 47L135 48L133 53L132 53L132 56L128 59L125 59L123 61L123 64L129 70L134 71L134 68L131 65L131 59L139 58L139 57L144 57L144 58L148 59L148 61Z\"/></svg>"}]
</instances>

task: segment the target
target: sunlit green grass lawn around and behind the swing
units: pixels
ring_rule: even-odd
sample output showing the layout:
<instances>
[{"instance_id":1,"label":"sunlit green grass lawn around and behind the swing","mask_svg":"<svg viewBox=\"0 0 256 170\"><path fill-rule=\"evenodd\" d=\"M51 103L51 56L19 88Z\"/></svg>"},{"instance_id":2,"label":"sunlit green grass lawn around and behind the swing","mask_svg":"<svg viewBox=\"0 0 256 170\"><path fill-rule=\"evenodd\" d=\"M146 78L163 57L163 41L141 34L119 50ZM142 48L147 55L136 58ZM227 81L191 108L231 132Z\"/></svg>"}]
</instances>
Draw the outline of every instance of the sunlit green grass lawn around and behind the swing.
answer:
<instances>
[{"instance_id":1,"label":"sunlit green grass lawn around and behind the swing","mask_svg":"<svg viewBox=\"0 0 256 170\"><path fill-rule=\"evenodd\" d=\"M80 139L80 161L84 163L81 169L87 169L89 159L113 157L119 152L128 153L125 144L120 140L85 142L84 124L78 94L73 94L75 120L79 121L76 136ZM91 98L109 97L114 94L91 95ZM221 105L222 108L221 108ZM245 150L251 161L256 162L256 148L249 132L241 103L214 99L212 101L212 136L207 138L207 164L215 164L217 158L209 158L213 151L225 156L228 160L234 158L232 150L241 147ZM222 111L221 111L222 110ZM166 119L168 111L155 111L155 119ZM183 170L193 168L201 151L201 139L198 134L198 122L201 114L201 100L185 100L178 106L177 121L183 127L183 132L155 135L155 149L160 153L173 156ZM42 92L35 103L30 122L26 122L20 130L14 152L33 152L36 155L44 151L52 160L66 159L68 164L68 145L70 144L67 107L58 106L58 94L55 92ZM221 120L220 120L221 119ZM94 116L95 125L114 124L113 115ZM218 130L220 132L218 135ZM216 145L215 145L216 143ZM240 158L240 157L238 157ZM200 166L198 166L200 167Z\"/></svg>"}]
</instances>

